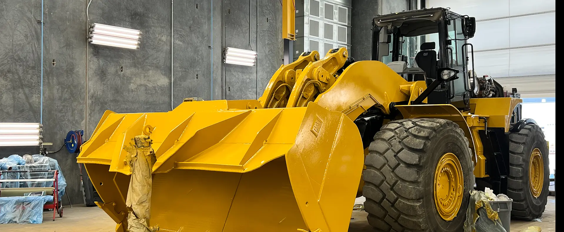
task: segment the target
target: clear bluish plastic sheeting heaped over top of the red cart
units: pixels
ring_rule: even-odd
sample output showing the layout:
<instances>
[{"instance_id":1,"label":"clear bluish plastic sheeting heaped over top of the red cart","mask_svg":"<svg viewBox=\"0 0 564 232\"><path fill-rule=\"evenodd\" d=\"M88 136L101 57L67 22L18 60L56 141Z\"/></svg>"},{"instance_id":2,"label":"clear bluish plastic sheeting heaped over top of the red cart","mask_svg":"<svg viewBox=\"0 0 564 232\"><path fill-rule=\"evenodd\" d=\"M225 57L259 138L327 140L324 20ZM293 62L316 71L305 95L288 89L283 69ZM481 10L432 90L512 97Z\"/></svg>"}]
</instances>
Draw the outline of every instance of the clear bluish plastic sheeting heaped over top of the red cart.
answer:
<instances>
[{"instance_id":1,"label":"clear bluish plastic sheeting heaped over top of the red cart","mask_svg":"<svg viewBox=\"0 0 564 232\"><path fill-rule=\"evenodd\" d=\"M59 199L65 194L65 187L67 186L67 181L61 172L61 167L59 162L54 158L42 156L41 154L33 155L33 164L25 165L25 160L23 157L12 154L9 157L2 158L0 160L0 170L59 170L58 183L59 183ZM52 179L53 172L14 172L14 173L3 173L0 175L0 179ZM52 187L52 181L21 181L21 182L6 182L0 183L0 188L30 188L30 187Z\"/></svg>"}]
</instances>

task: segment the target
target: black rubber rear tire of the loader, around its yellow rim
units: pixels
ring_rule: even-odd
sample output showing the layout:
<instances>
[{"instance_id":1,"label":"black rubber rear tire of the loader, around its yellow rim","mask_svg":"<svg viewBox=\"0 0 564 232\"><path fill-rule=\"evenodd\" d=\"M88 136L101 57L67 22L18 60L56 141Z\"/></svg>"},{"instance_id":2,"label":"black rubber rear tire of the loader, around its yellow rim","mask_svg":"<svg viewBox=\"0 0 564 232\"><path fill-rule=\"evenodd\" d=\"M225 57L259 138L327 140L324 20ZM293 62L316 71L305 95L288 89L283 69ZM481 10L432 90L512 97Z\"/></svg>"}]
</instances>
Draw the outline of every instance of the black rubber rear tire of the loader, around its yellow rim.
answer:
<instances>
[{"instance_id":1,"label":"black rubber rear tire of the loader, around its yellow rim","mask_svg":"<svg viewBox=\"0 0 564 232\"><path fill-rule=\"evenodd\" d=\"M547 204L550 170L548 167L548 148L543 130L538 125L527 124L521 131L509 135L509 178L507 196L513 199L511 216L513 219L532 220L543 215ZM539 148L544 162L544 182L539 197L530 190L529 162L531 153Z\"/></svg>"}]
</instances>

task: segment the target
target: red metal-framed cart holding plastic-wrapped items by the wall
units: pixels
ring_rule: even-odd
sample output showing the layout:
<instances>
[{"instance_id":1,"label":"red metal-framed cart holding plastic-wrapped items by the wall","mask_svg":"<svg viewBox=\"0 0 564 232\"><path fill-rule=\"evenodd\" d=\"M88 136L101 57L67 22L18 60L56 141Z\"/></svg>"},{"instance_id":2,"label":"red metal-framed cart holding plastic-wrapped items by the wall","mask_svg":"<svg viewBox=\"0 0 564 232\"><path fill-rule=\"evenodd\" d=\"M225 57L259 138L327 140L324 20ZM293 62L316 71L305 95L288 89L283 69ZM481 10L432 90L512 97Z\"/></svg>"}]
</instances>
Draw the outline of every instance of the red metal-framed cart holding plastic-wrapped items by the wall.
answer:
<instances>
[{"instance_id":1,"label":"red metal-framed cart holding plastic-wrapped items by the wall","mask_svg":"<svg viewBox=\"0 0 564 232\"><path fill-rule=\"evenodd\" d=\"M31 187L31 188L0 188L0 197L21 197L24 193L42 192L45 191L47 195L53 195L53 202L47 202L43 205L43 209L53 211L53 221L55 221L55 214L59 213L59 217L63 217L63 207L59 199L59 182L58 170L26 170L26 171L0 171L0 176L8 172L54 172L51 179L3 179L0 182L37 182L37 181L53 181L52 187Z\"/></svg>"}]
</instances>

